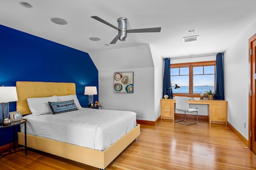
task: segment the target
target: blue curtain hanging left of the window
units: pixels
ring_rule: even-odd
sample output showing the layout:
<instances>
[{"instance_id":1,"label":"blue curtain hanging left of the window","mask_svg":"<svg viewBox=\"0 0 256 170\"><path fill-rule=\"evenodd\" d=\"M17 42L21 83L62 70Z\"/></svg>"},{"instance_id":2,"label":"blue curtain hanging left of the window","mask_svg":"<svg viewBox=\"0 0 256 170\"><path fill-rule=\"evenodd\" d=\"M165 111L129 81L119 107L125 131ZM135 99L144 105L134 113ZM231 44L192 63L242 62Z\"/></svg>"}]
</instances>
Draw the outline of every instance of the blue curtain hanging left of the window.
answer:
<instances>
[{"instance_id":1,"label":"blue curtain hanging left of the window","mask_svg":"<svg viewBox=\"0 0 256 170\"><path fill-rule=\"evenodd\" d=\"M164 95L166 94L169 96L169 98L173 97L172 88L170 88L172 87L170 66L171 66L170 58L164 59L163 98L164 98Z\"/></svg>"}]
</instances>

